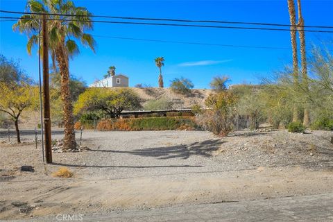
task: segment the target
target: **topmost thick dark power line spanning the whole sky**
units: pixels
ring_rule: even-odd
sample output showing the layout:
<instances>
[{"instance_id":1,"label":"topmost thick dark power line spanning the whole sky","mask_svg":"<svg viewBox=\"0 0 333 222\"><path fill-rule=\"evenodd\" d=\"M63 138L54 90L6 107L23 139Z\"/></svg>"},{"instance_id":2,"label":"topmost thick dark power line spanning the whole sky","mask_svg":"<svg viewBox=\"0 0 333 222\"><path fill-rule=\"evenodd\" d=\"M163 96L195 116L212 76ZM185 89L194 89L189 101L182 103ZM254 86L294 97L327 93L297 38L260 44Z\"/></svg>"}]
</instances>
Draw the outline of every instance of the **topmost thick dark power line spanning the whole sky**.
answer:
<instances>
[{"instance_id":1,"label":"topmost thick dark power line spanning the whole sky","mask_svg":"<svg viewBox=\"0 0 333 222\"><path fill-rule=\"evenodd\" d=\"M219 24L246 24L257 26L283 26L283 27L302 27L302 28L333 28L333 26L301 26L291 24L276 24L276 23L262 23L262 22L230 22L230 21L218 21L218 20L191 20L191 19L166 19L166 18L147 18L147 17L120 17L109 15L71 15L71 14L56 14L56 13L40 13L40 12L16 12L8 10L0 10L0 12L11 14L26 14L26 15L55 15L55 16L67 16L67 17L99 17L109 19L130 19L130 20L149 20L149 21L166 21L166 22L193 22L193 23L219 23Z\"/></svg>"}]
</instances>

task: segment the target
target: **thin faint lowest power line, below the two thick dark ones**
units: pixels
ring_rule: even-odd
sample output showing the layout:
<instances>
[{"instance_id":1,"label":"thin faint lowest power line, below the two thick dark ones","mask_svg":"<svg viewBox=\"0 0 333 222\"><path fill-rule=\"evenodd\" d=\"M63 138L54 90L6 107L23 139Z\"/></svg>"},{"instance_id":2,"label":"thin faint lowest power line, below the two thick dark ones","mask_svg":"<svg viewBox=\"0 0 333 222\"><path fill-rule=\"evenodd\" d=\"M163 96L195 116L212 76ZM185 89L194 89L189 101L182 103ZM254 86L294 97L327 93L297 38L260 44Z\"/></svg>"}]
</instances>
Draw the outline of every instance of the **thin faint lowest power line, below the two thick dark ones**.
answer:
<instances>
[{"instance_id":1,"label":"thin faint lowest power line, below the two thick dark ones","mask_svg":"<svg viewBox=\"0 0 333 222\"><path fill-rule=\"evenodd\" d=\"M134 37L119 37L119 36L108 36L108 35L92 35L94 37L105 37L119 40L137 40L145 42L167 42L167 43L176 43L176 44L196 44L196 45L205 45L205 46L226 46L226 47L237 47L237 48L249 48L249 49L281 49L281 50L290 50L291 48L284 47L274 47L274 46L248 46L248 45L235 45L235 44L212 44L204 42L180 42L180 41L169 41L169 40L151 40L151 39L142 39Z\"/></svg>"}]
</instances>

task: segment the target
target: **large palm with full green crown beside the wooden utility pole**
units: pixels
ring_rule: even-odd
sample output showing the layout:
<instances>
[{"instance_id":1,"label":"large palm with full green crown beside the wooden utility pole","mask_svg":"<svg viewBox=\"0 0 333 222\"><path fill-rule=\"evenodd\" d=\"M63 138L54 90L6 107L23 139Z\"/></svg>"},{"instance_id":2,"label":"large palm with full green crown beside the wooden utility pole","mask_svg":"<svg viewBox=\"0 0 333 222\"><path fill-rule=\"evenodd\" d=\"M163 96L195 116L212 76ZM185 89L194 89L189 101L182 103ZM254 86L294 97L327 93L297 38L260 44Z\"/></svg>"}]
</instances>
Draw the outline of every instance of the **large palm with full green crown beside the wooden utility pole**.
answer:
<instances>
[{"instance_id":1,"label":"large palm with full green crown beside the wooden utility pole","mask_svg":"<svg viewBox=\"0 0 333 222\"><path fill-rule=\"evenodd\" d=\"M64 150L76 148L74 133L73 107L69 91L69 57L80 51L75 40L80 40L84 46L89 46L94 51L95 41L92 35L85 31L92 30L92 15L86 8L76 7L70 0L29 0L26 8L28 12L47 13L49 50L53 64L57 64L61 75L61 97L64 111ZM66 14L66 15L57 15ZM37 33L41 15L23 15L13 29L28 36L27 51L31 54L33 45L42 40L42 33ZM48 53L48 52L42 52ZM56 63L55 63L56 62Z\"/></svg>"}]
</instances>

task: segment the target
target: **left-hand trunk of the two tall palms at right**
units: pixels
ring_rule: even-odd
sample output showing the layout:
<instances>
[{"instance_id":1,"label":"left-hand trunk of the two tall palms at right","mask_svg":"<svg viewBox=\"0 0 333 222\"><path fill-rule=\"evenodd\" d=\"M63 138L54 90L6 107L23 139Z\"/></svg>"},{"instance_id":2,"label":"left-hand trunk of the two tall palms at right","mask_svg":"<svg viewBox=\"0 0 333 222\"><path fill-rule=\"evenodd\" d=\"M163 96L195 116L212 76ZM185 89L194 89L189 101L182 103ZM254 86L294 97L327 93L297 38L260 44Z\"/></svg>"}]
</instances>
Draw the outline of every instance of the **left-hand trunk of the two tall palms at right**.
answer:
<instances>
[{"instance_id":1,"label":"left-hand trunk of the two tall palms at right","mask_svg":"<svg viewBox=\"0 0 333 222\"><path fill-rule=\"evenodd\" d=\"M293 50L293 83L295 87L298 87L298 54L297 54L297 40L296 40L296 10L294 0L287 0L289 18L290 18L290 35L291 35L291 47ZM293 121L298 121L298 109L296 105L293 108Z\"/></svg>"}]
</instances>

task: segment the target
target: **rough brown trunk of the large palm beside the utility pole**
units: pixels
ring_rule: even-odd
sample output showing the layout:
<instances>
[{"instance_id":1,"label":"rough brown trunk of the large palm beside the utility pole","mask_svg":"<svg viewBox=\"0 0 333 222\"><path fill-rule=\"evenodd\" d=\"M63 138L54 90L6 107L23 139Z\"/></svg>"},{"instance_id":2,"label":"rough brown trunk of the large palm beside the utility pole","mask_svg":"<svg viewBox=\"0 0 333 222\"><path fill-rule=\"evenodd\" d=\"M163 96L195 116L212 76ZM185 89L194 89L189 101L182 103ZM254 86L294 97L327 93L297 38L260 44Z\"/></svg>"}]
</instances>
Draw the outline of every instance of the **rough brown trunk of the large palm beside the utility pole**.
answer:
<instances>
[{"instance_id":1,"label":"rough brown trunk of the large palm beside the utility pole","mask_svg":"<svg viewBox=\"0 0 333 222\"><path fill-rule=\"evenodd\" d=\"M67 62L67 54L61 45L56 48L56 59L61 75L61 99L64 105L64 125L65 137L63 142L63 150L71 150L76 148L73 106L71 105L71 92L69 91L69 67Z\"/></svg>"}]
</instances>

